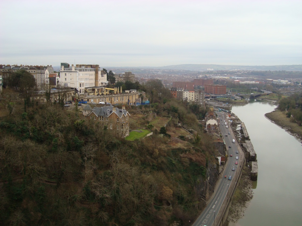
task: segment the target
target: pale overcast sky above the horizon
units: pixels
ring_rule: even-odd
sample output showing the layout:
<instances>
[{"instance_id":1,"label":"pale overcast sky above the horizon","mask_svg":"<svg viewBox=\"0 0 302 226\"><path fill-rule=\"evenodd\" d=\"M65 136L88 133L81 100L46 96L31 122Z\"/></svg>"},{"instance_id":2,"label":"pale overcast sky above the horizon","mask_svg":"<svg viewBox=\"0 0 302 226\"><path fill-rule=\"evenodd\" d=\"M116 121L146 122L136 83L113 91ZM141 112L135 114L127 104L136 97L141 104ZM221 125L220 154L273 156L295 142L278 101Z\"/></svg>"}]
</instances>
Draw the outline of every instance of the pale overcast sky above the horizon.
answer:
<instances>
[{"instance_id":1,"label":"pale overcast sky above the horizon","mask_svg":"<svg viewBox=\"0 0 302 226\"><path fill-rule=\"evenodd\" d=\"M0 0L0 64L302 64L301 0Z\"/></svg>"}]
</instances>

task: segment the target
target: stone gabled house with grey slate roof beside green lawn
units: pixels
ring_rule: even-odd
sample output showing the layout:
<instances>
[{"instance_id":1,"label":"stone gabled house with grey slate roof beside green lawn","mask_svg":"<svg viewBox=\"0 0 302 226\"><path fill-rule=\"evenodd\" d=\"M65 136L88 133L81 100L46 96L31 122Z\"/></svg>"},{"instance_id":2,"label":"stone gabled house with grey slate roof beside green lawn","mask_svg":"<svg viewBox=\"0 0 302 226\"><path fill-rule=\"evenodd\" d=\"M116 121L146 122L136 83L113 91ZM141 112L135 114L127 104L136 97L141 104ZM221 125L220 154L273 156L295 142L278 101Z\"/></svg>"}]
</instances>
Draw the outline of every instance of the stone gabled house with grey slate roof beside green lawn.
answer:
<instances>
[{"instance_id":1,"label":"stone gabled house with grey slate roof beside green lawn","mask_svg":"<svg viewBox=\"0 0 302 226\"><path fill-rule=\"evenodd\" d=\"M130 114L125 110L125 105L121 109L113 105L94 107L85 116L86 120L94 120L102 127L107 126L107 129L114 131L117 137L123 138L129 136L129 117Z\"/></svg>"}]
</instances>

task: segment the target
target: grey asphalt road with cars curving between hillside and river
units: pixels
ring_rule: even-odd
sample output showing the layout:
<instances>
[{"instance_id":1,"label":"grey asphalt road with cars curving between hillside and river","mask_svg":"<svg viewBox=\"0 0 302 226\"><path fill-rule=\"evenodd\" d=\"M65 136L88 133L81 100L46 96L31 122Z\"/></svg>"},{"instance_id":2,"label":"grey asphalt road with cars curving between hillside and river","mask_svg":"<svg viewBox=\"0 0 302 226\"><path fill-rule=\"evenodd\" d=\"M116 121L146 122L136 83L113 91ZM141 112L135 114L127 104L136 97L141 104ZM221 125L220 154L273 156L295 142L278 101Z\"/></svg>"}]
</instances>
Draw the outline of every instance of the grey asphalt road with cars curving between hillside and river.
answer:
<instances>
[{"instance_id":1,"label":"grey asphalt road with cars curving between hillside and river","mask_svg":"<svg viewBox=\"0 0 302 226\"><path fill-rule=\"evenodd\" d=\"M212 197L212 199L210 200L204 211L201 213L201 215L192 224L193 226L214 225L214 215L216 218L225 197L230 196L231 192L228 193L228 189L230 187L230 183L235 183L236 170L237 167L239 168L239 165L235 165L236 161L239 164L239 160L241 158L240 152L236 146L237 140L235 139L235 137L233 137L234 134L230 130L230 123L228 122L228 119L226 119L225 114L223 112L217 112L217 113L218 113L218 117L220 118L220 125L219 125L220 132L223 135L223 139L226 143L226 148L228 149L229 161L225 166L223 175L220 178L220 181L218 182L219 183L218 186L216 186L216 191L214 191L214 196ZM226 128L226 125L224 124L223 121L226 121L229 128ZM228 132L230 132L231 134L228 134ZM226 137L225 134L228 134L228 136ZM233 139L235 139L236 143L232 143ZM231 146L231 148L229 148L229 145ZM238 154L236 154L236 151L238 151ZM233 155L233 157L230 157L230 155ZM238 156L238 159L236 159L236 156ZM235 171L232 171L233 168L235 168ZM226 178L224 178L224 176L226 176ZM232 176L231 180L228 180L229 176ZM215 223L218 224L218 222Z\"/></svg>"}]
</instances>

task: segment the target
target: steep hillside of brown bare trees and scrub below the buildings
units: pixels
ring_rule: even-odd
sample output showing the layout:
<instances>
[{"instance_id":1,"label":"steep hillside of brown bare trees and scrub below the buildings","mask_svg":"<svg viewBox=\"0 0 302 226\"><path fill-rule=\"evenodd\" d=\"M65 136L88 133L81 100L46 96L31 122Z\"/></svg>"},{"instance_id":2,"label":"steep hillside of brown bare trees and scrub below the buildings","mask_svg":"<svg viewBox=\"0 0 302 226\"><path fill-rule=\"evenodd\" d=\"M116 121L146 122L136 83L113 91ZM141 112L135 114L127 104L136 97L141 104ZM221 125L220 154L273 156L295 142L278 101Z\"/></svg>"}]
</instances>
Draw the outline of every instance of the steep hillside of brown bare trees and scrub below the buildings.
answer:
<instances>
[{"instance_id":1,"label":"steep hillside of brown bare trees and scrub below the buildings","mask_svg":"<svg viewBox=\"0 0 302 226\"><path fill-rule=\"evenodd\" d=\"M18 94L4 92L1 103L1 225L188 225L218 178L212 139L196 120L205 111L194 105L152 105L197 131L174 147L172 121L167 135L149 126L153 136L127 141L54 103L24 112Z\"/></svg>"}]
</instances>

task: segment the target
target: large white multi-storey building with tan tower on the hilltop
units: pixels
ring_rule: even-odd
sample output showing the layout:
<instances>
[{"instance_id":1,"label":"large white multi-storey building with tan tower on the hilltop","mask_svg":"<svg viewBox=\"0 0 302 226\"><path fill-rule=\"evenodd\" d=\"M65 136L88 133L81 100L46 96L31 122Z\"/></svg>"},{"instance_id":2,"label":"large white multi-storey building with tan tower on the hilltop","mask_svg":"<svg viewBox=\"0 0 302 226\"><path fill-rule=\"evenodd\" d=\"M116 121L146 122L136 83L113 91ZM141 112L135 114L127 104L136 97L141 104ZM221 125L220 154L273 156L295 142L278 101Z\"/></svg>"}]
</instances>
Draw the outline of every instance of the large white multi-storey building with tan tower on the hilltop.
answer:
<instances>
[{"instance_id":1,"label":"large white multi-storey building with tan tower on the hilltop","mask_svg":"<svg viewBox=\"0 0 302 226\"><path fill-rule=\"evenodd\" d=\"M60 86L73 87L79 93L102 93L108 85L107 74L99 70L97 64L72 64L61 63Z\"/></svg>"}]
</instances>

